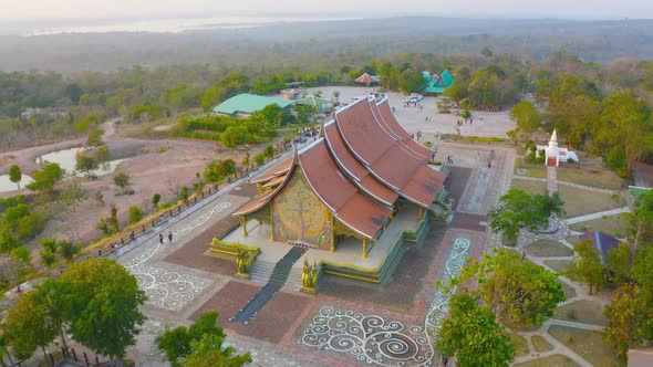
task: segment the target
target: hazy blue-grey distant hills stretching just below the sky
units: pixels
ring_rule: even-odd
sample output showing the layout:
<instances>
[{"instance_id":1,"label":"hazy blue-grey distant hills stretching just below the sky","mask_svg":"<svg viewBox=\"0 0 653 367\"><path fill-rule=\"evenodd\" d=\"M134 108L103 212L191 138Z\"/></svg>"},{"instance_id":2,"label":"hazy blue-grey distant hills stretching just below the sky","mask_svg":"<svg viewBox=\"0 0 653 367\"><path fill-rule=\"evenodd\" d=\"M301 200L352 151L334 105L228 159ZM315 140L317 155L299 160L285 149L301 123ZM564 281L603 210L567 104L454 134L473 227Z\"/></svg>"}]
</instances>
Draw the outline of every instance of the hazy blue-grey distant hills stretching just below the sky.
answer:
<instances>
[{"instance_id":1,"label":"hazy blue-grey distant hills stretching just below the sky","mask_svg":"<svg viewBox=\"0 0 653 367\"><path fill-rule=\"evenodd\" d=\"M168 33L0 36L0 71L106 71L134 64L319 60L348 52L478 53L489 46L542 60L567 49L584 61L653 60L653 20L569 21L406 17Z\"/></svg>"}]
</instances>

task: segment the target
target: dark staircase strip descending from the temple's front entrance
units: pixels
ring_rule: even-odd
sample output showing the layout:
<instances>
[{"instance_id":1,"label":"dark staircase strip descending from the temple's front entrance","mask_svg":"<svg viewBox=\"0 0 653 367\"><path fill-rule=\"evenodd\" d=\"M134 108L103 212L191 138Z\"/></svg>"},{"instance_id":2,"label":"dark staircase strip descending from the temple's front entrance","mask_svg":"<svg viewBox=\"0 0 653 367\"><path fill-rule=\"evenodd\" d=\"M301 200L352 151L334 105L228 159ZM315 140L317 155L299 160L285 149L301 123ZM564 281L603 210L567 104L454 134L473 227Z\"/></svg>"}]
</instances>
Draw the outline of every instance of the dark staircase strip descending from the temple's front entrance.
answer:
<instances>
[{"instance_id":1,"label":"dark staircase strip descending from the temple's front entrance","mask_svg":"<svg viewBox=\"0 0 653 367\"><path fill-rule=\"evenodd\" d=\"M263 287L255 294L255 296L249 300L247 305L242 307L236 316L231 317L229 321L235 323L247 324L263 306L272 298L281 287L286 284L288 280L288 275L292 270L292 265L301 258L308 249L303 248L292 248L281 260L277 262L272 272L270 273L269 281ZM252 266L253 269L253 266ZM261 274L263 269L261 266ZM265 275L261 275L265 276ZM300 277L301 282L301 277Z\"/></svg>"}]
</instances>

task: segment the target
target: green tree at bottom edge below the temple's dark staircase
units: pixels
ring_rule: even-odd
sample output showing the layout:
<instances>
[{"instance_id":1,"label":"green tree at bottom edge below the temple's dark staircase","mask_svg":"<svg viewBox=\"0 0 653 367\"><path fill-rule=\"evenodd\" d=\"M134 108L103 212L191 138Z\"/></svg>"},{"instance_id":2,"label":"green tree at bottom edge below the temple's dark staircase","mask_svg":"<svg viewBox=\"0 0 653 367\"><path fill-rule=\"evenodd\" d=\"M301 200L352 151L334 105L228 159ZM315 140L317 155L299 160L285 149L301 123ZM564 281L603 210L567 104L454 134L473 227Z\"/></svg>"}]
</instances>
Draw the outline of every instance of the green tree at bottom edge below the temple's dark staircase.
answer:
<instances>
[{"instance_id":1,"label":"green tree at bottom edge below the temple's dark staircase","mask_svg":"<svg viewBox=\"0 0 653 367\"><path fill-rule=\"evenodd\" d=\"M186 328L166 331L155 339L173 366L243 366L251 361L249 353L234 355L236 349L224 347L226 335L216 326L217 312L201 314Z\"/></svg>"}]
</instances>

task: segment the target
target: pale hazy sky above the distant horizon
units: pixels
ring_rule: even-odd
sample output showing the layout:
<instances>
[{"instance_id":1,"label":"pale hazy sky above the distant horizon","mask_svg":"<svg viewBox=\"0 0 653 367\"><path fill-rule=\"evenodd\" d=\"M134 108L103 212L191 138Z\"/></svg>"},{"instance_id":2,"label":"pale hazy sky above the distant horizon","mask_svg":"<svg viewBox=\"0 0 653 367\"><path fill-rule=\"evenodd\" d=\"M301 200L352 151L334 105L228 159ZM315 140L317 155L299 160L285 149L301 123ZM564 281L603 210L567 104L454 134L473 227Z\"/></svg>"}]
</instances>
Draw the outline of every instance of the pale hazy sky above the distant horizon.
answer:
<instances>
[{"instance_id":1,"label":"pale hazy sky above the distant horizon","mask_svg":"<svg viewBox=\"0 0 653 367\"><path fill-rule=\"evenodd\" d=\"M0 19L83 19L266 13L350 17L653 18L652 0L0 0Z\"/></svg>"}]
</instances>

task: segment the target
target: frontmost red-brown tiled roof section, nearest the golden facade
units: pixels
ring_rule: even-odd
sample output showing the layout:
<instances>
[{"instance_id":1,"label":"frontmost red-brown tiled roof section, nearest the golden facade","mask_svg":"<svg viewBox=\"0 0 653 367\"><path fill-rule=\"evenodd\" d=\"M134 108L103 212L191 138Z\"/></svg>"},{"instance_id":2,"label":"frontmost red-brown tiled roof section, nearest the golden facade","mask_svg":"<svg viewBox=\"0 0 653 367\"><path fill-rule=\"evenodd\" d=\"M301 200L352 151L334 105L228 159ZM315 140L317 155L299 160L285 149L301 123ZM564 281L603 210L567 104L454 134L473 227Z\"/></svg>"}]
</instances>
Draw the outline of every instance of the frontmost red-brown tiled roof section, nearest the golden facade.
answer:
<instances>
[{"instance_id":1,"label":"frontmost red-brown tiled roof section, nearest the golden facade","mask_svg":"<svg viewBox=\"0 0 653 367\"><path fill-rule=\"evenodd\" d=\"M324 139L302 150L299 162L313 191L335 218L370 239L376 237L392 210L359 192L340 171Z\"/></svg>"}]
</instances>

